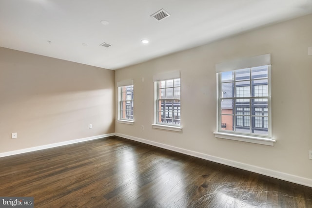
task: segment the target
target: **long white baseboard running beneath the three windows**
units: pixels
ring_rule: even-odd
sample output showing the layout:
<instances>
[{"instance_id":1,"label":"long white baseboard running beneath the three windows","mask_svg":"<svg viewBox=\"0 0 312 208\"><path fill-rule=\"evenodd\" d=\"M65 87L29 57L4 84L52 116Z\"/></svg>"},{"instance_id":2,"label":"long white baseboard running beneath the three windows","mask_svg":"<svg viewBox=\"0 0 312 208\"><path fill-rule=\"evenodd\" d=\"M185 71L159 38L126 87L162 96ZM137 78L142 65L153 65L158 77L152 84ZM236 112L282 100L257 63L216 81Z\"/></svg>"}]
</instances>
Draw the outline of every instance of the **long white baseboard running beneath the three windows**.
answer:
<instances>
[{"instance_id":1,"label":"long white baseboard running beneath the three windows","mask_svg":"<svg viewBox=\"0 0 312 208\"><path fill-rule=\"evenodd\" d=\"M150 140L146 140L146 139L142 139L142 138L138 138L138 137L134 137L134 136L129 136L129 135L125 135L125 134L121 134L121 133L115 133L116 136L120 136L126 139L131 139L134 141L138 141L138 142L142 142L145 144L149 144L149 145L153 145L156 147L160 147L166 150L171 150L171 151L176 151L179 153L183 153L183 154L187 154L187 155L191 155L194 157L198 157L201 159L205 159L205 160L209 160L212 162L216 162L216 163L220 163L223 165L228 165L234 168L239 168L242 170L248 170L248 171L252 171L255 173L259 173L262 175L266 175L266 176L270 176L273 178L277 178L277 179L281 179L284 181L289 181L292 183L296 183L296 184L300 184L300 185L304 185L304 186L308 186L308 187L312 187L312 179L309 178L303 178L300 176L296 176L296 175L291 175L288 173L284 173L284 172L279 172L276 170L269 170L269 169L265 169L265 168L261 168L261 167L257 167L257 166L253 166L253 165L249 165L249 164L245 164L245 163L240 163L240 162L236 162L233 160L228 160L228 159L224 159L224 158L220 158L220 157L215 157L212 155L208 155L208 154L204 154L204 153L200 153L200 152L196 152L196 151L190 151L190 150L186 150L186 149L182 149L182 148L178 148L178 147L174 147L174 146L170 146L170 145L166 145L166 144L162 144L162 143L158 143L158 142L154 142L154 141L150 141Z\"/></svg>"}]
</instances>

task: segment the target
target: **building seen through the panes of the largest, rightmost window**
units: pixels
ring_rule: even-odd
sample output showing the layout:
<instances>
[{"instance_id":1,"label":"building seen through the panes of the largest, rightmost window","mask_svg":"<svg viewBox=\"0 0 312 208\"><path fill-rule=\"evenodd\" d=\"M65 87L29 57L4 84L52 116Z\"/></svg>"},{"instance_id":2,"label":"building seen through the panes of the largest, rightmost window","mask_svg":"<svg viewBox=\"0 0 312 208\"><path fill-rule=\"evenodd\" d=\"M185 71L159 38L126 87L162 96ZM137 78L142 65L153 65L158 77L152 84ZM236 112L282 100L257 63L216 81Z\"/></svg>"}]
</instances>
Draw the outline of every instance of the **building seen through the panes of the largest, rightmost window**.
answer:
<instances>
[{"instance_id":1,"label":"building seen through the panes of the largest, rightmost window","mask_svg":"<svg viewBox=\"0 0 312 208\"><path fill-rule=\"evenodd\" d=\"M268 135L268 67L219 74L221 130Z\"/></svg>"}]
</instances>

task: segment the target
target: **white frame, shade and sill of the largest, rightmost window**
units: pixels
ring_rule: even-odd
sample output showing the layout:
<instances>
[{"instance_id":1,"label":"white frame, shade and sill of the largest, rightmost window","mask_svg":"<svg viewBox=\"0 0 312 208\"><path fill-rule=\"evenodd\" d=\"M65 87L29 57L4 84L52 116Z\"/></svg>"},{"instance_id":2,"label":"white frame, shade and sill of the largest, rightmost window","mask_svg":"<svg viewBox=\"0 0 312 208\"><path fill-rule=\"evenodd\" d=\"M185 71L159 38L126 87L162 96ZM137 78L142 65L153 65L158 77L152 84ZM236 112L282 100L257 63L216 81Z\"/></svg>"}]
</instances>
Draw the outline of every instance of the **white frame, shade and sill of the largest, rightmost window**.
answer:
<instances>
[{"instance_id":1,"label":"white frame, shade and sill of the largest, rightmost window","mask_svg":"<svg viewBox=\"0 0 312 208\"><path fill-rule=\"evenodd\" d=\"M249 132L236 132L236 131L228 131L228 130L222 130L221 128L221 102L222 98L222 81L221 81L221 73L222 72L229 72L229 71L235 71L240 69L246 69L246 68L253 68L258 66L268 66L268 96L263 97L253 97L252 95L248 97L244 97L245 99L250 99L250 103L252 99L257 98L265 98L268 99L268 134L256 134L256 133L249 133ZM250 58L244 58L240 60L234 60L229 61L226 63L221 63L216 65L216 75L217 75L217 116L216 116L216 132L214 132L215 137L217 138L224 138L224 139L232 139L237 141L244 141L244 142L251 142L256 144L263 144L263 145L270 145L273 146L275 140L272 138L272 102L271 102L271 55L261 55L257 57L250 57ZM252 79L252 77L250 77ZM235 83L235 79L234 79ZM252 87L252 85L250 85ZM237 99L235 96L235 92L232 99ZM231 99L229 98L229 99ZM250 107L251 110L251 107ZM234 109L234 115L236 114ZM250 112L250 119L253 116ZM235 122L235 119L234 119Z\"/></svg>"}]
</instances>

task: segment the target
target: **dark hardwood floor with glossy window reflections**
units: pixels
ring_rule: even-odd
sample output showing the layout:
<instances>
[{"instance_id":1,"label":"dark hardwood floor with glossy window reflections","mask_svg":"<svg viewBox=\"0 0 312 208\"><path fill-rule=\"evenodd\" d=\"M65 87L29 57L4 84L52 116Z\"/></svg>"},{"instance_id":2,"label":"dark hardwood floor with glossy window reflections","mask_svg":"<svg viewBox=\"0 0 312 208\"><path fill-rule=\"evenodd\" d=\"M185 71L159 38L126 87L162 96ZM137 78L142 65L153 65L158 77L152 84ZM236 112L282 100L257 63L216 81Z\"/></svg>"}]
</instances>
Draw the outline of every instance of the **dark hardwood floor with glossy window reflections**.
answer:
<instances>
[{"instance_id":1,"label":"dark hardwood floor with glossy window reflections","mask_svg":"<svg viewBox=\"0 0 312 208\"><path fill-rule=\"evenodd\" d=\"M312 208L312 188L112 136L0 158L37 208Z\"/></svg>"}]
</instances>

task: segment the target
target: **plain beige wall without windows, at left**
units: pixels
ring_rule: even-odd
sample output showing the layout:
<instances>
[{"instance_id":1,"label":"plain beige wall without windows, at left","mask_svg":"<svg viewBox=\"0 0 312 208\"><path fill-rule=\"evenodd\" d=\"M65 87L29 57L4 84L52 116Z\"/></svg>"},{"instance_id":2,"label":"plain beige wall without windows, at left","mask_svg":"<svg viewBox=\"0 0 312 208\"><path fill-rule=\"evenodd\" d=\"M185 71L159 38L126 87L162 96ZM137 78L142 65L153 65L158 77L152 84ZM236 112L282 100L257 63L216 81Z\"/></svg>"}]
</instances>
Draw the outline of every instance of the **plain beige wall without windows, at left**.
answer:
<instances>
[{"instance_id":1,"label":"plain beige wall without windows, at left","mask_svg":"<svg viewBox=\"0 0 312 208\"><path fill-rule=\"evenodd\" d=\"M0 152L115 132L114 83L115 71L0 48Z\"/></svg>"}]
</instances>

